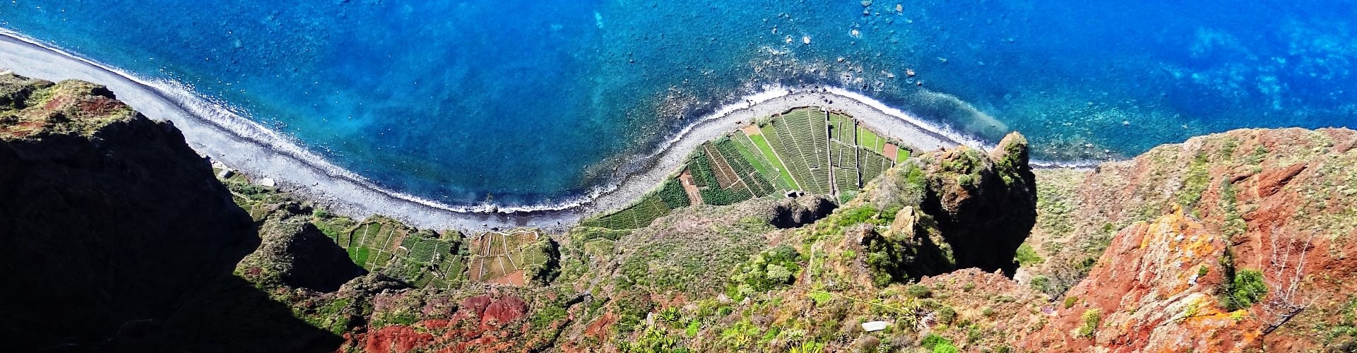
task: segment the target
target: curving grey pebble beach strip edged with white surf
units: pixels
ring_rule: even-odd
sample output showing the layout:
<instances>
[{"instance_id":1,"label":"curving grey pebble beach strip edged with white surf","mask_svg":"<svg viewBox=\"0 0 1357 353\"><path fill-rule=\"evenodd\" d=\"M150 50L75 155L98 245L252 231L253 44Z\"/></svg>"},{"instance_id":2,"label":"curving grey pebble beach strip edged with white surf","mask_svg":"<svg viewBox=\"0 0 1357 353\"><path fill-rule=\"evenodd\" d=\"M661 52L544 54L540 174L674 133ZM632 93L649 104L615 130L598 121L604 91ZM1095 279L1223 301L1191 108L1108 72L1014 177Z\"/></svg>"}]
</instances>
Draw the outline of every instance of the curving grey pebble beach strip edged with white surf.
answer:
<instances>
[{"instance_id":1,"label":"curving grey pebble beach strip edged with white surf","mask_svg":"<svg viewBox=\"0 0 1357 353\"><path fill-rule=\"evenodd\" d=\"M140 79L4 29L0 29L0 69L53 81L79 79L107 86L118 99L144 115L171 121L183 132L190 147L231 168L273 178L282 189L323 204L337 215L357 219L384 215L434 229L535 227L548 232L565 231L589 215L630 205L676 172L702 143L734 132L754 118L801 106L844 111L920 151L958 144L988 148L980 140L848 90L764 87L764 91L748 95L740 103L695 119L653 152L630 157L632 162L619 166L615 178L596 186L588 196L551 205L449 206L377 186L305 149L299 141L233 113L227 105L193 94L182 84Z\"/></svg>"}]
</instances>

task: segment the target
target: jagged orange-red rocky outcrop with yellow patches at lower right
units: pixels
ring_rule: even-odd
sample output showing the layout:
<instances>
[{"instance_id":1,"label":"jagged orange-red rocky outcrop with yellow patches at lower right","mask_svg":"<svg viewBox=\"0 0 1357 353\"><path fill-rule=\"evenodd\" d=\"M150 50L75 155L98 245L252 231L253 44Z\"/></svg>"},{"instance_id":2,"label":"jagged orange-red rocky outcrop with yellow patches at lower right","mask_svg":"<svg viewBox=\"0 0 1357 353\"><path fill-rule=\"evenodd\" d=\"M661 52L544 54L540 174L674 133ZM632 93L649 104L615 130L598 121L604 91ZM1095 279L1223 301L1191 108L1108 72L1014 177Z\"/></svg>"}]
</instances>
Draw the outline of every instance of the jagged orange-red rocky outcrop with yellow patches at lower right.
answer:
<instances>
[{"instance_id":1,"label":"jagged orange-red rocky outcrop with yellow patches at lower right","mask_svg":"<svg viewBox=\"0 0 1357 353\"><path fill-rule=\"evenodd\" d=\"M1225 239L1179 209L1122 229L1025 349L1258 350L1261 322L1217 296L1231 278Z\"/></svg>"}]
</instances>

